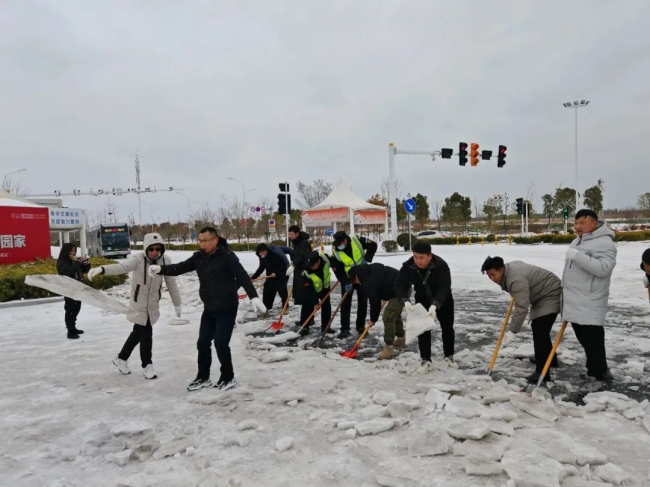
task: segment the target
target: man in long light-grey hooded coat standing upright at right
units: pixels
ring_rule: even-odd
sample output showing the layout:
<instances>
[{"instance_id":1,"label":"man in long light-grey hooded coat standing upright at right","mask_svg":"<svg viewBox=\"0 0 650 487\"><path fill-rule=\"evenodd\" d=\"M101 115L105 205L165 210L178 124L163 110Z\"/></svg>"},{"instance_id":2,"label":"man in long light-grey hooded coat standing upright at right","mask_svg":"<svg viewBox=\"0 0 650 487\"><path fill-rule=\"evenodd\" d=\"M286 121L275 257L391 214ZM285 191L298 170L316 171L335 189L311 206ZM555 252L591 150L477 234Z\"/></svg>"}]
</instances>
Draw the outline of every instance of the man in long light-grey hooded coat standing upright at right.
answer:
<instances>
[{"instance_id":1,"label":"man in long light-grey hooded coat standing upright at right","mask_svg":"<svg viewBox=\"0 0 650 487\"><path fill-rule=\"evenodd\" d=\"M562 320L573 326L587 355L589 380L613 380L605 352L605 315L609 285L616 266L614 232L592 210L575 217L578 236L566 253L562 277Z\"/></svg>"}]
</instances>

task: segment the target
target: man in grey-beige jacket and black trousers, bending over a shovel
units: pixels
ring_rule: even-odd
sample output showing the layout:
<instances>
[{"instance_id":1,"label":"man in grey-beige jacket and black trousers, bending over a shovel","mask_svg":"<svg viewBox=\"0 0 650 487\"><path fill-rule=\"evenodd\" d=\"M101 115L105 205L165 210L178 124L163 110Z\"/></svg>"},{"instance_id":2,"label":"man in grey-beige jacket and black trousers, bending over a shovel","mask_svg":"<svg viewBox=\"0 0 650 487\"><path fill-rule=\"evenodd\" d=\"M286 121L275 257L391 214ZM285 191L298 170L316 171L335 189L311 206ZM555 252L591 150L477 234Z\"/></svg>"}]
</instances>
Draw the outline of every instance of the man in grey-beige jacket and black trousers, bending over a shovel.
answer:
<instances>
[{"instance_id":1,"label":"man in grey-beige jacket and black trousers, bending over a shovel","mask_svg":"<svg viewBox=\"0 0 650 487\"><path fill-rule=\"evenodd\" d=\"M515 300L515 312L510 320L510 331L519 333L530 308L533 344L535 346L535 373L527 377L537 383L551 354L551 328L560 313L562 282L551 271L521 261L504 264L501 257L488 257L481 267L492 282L499 284ZM557 357L551 366L557 367ZM550 372L545 381L551 380Z\"/></svg>"}]
</instances>

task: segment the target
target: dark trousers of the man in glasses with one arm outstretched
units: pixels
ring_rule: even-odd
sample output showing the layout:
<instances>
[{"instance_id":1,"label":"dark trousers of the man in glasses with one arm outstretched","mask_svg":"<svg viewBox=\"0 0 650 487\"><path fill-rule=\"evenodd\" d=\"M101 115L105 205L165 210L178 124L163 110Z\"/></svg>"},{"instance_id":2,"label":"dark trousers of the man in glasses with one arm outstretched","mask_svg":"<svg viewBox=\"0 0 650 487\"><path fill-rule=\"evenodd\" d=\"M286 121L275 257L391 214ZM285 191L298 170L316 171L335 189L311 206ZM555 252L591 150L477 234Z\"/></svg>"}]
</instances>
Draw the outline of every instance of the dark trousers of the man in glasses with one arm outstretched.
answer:
<instances>
[{"instance_id":1,"label":"dark trousers of the man in glasses with one arm outstretched","mask_svg":"<svg viewBox=\"0 0 650 487\"><path fill-rule=\"evenodd\" d=\"M237 307L225 311L203 311L201 315L201 327L199 328L199 339L196 342L196 349L199 351L199 372L197 379L210 378L210 367L212 366L212 342L217 351L217 358L221 363L221 377L219 382L228 382L235 377L232 368L232 356L230 355L230 337L235 328L237 318Z\"/></svg>"}]
</instances>

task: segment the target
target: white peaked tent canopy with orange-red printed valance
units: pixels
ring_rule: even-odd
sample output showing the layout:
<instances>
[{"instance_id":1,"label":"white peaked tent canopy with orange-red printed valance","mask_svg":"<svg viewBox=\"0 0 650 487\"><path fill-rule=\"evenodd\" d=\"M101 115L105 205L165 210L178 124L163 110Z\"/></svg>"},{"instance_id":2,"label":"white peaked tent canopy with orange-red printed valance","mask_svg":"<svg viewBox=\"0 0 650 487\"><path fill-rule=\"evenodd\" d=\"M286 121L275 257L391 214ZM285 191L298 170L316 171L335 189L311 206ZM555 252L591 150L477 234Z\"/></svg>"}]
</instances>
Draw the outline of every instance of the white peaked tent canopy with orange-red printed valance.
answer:
<instances>
[{"instance_id":1,"label":"white peaked tent canopy with orange-red printed valance","mask_svg":"<svg viewBox=\"0 0 650 487\"><path fill-rule=\"evenodd\" d=\"M332 230L336 231L337 222L350 222L350 235L354 235L355 222L357 225L379 223L387 228L387 218L385 207L363 200L343 181L340 181L321 203L302 213L303 226L332 225Z\"/></svg>"}]
</instances>

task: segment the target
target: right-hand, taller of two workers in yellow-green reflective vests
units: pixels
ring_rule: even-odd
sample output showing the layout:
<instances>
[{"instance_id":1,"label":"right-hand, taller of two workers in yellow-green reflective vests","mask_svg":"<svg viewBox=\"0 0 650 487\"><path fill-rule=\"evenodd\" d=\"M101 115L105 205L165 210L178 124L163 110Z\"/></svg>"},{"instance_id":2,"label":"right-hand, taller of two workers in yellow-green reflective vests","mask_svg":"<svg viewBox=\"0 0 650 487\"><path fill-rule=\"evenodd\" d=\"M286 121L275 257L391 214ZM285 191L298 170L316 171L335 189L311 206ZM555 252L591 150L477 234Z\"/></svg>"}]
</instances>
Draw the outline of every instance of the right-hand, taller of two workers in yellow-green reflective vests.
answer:
<instances>
[{"instance_id":1,"label":"right-hand, taller of two workers in yellow-green reflective vests","mask_svg":"<svg viewBox=\"0 0 650 487\"><path fill-rule=\"evenodd\" d=\"M346 291L350 293L348 299L341 305L341 333L339 338L350 336L350 313L352 311L352 292L354 291L357 293L357 332L363 333L366 327L368 298L363 288L353 286L348 272L353 266L367 265L372 262L376 252L377 244L370 239L350 237L343 231L334 234L332 254L335 260L332 260L332 269L341 283L341 294Z\"/></svg>"}]
</instances>

